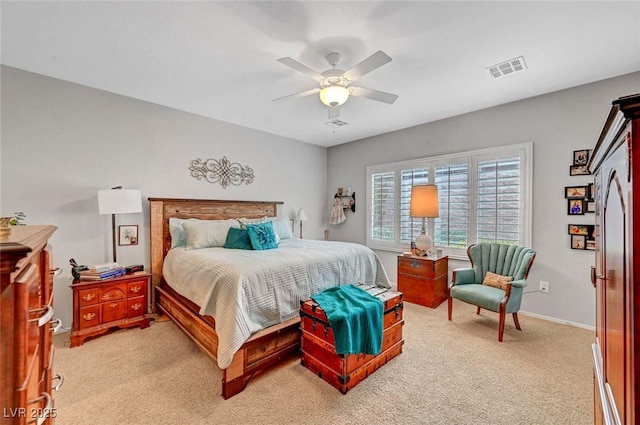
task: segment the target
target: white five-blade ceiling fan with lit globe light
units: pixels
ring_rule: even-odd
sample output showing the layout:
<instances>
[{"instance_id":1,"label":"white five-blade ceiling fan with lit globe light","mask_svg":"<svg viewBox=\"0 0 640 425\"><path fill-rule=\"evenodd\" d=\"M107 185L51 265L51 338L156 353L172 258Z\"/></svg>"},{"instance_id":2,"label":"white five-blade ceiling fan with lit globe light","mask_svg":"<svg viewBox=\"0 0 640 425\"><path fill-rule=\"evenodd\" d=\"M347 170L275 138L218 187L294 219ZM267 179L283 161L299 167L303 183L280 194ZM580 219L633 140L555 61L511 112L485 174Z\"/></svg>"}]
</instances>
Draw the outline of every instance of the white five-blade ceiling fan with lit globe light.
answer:
<instances>
[{"instance_id":1,"label":"white five-blade ceiling fan with lit globe light","mask_svg":"<svg viewBox=\"0 0 640 425\"><path fill-rule=\"evenodd\" d=\"M319 94L320 101L329 107L329 119L334 119L338 118L340 105L344 104L349 99L349 96L364 97L388 104L392 104L398 98L397 94L351 85L352 82L363 75L391 62L391 58L382 50L378 50L348 71L336 68L342 58L339 53L329 53L325 58L331 68L323 72L316 72L290 57L278 59L281 64L309 75L318 82L319 87L273 99L273 102Z\"/></svg>"}]
</instances>

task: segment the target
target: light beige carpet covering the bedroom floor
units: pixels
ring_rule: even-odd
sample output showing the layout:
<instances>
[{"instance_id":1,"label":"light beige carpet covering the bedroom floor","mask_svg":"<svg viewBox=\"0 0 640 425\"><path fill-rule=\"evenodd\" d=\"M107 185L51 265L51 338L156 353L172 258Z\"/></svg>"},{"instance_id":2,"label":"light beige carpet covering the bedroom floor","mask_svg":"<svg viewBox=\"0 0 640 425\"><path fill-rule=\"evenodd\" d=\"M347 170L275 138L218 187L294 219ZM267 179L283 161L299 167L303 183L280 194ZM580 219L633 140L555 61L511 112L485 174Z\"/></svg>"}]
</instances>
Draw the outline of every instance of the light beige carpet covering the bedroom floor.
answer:
<instances>
[{"instance_id":1,"label":"light beige carpet covering the bedroom floor","mask_svg":"<svg viewBox=\"0 0 640 425\"><path fill-rule=\"evenodd\" d=\"M557 424L593 423L594 333L455 302L405 303L403 353L342 395L299 358L221 397L221 372L172 322L69 348L55 336L56 424Z\"/></svg>"}]
</instances>

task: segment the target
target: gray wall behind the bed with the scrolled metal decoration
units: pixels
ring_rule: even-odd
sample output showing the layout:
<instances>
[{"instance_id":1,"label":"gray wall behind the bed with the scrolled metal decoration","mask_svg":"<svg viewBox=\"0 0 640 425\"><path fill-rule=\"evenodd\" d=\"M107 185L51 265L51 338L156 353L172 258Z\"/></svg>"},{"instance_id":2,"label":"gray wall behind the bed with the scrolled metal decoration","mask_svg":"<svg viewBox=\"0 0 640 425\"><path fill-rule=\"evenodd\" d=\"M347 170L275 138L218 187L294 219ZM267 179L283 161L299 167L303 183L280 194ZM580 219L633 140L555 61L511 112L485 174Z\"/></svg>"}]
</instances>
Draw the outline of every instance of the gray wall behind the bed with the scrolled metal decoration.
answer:
<instances>
[{"instance_id":1,"label":"gray wall behind the bed with the scrolled metal decoration","mask_svg":"<svg viewBox=\"0 0 640 425\"><path fill-rule=\"evenodd\" d=\"M117 217L140 226L140 244L117 249L125 265L149 266L148 197L284 201L281 215L304 208L305 238L324 237L326 148L14 68L3 66L1 78L0 212L58 226L50 242L64 273L54 303L65 327L69 259L111 258L111 216L98 214L98 189L142 190L143 213ZM223 189L191 177L191 160L223 156L252 167L254 182Z\"/></svg>"}]
</instances>

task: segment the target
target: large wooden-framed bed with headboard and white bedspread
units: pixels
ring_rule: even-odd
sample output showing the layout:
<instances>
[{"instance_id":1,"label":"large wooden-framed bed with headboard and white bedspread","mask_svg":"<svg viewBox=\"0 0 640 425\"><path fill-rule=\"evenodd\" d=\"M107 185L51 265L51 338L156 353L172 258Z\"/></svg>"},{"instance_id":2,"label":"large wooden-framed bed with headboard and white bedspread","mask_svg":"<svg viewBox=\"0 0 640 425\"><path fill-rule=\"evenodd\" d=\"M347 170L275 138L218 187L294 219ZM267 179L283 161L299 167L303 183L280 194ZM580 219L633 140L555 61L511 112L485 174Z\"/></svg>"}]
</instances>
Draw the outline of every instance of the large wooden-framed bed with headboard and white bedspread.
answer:
<instances>
[{"instance_id":1,"label":"large wooden-framed bed with headboard and white bedspread","mask_svg":"<svg viewBox=\"0 0 640 425\"><path fill-rule=\"evenodd\" d=\"M241 392L257 373L297 352L300 346L300 318L297 311L300 299L306 299L308 295L322 290L325 287L323 285L349 283L345 279L352 280L355 279L354 276L363 276L364 280L368 280L370 284L381 286L389 284L384 268L372 252L375 265L368 264L366 268L362 266L361 272L357 268L351 270L346 265L334 264L336 261L343 261L339 257L350 255L348 252L350 250L368 250L359 244L291 239L280 241L277 249L261 252L215 247L192 250L190 253L185 252L184 248L171 249L169 221L172 218L200 220L225 220L239 217L275 218L278 215L278 205L282 202L167 198L149 198L149 202L154 305L159 313L168 316L218 363L222 370L222 396L225 399ZM209 261L209 257L212 263L224 261L226 265L224 270L242 270L241 279L236 279L239 282L237 286L233 286L236 285L235 280L229 280L230 276L235 274L227 276L223 272L220 274L220 276L224 275L223 277L219 279L216 277L219 280L216 288L227 288L225 290L231 294L227 295L227 298L235 300L224 304L224 309L218 306L218 311L224 311L224 315L215 314L216 300L221 296L218 294L221 289L209 292L191 291L192 282L195 287L195 282L199 282L202 276L190 274L187 277L181 277L183 274L174 270L174 264L180 264L194 256L195 263L191 265L191 269L198 272L201 265ZM276 258L275 263L280 264L278 266L280 269L272 265ZM311 273L308 269L299 269L302 267L298 264L300 261L312 262L312 270L321 270L321 272ZM349 267L352 268L352 265ZM284 269L286 270L283 271ZM211 270L210 274L219 273L217 271L219 269ZM292 273L297 275L292 277L290 276ZM339 276L336 276L336 273ZM316 275L315 278L309 278L308 282L305 280L306 286L302 289L287 286L288 280L295 281L299 280L301 275L312 274ZM332 283L338 280L341 283ZM251 281L254 283L251 284ZM244 295L247 292L253 294L257 291L255 288L266 286L272 288L278 285L283 286L284 291L269 291L274 292L273 296L276 298L261 302L267 305L277 304L276 314L273 311L259 312L260 305L253 306L252 300L260 297ZM211 298L212 292L216 292L217 298ZM236 297L234 294L240 295ZM290 299L284 300L285 298ZM229 309L229 305L234 308ZM218 317L218 323L209 314Z\"/></svg>"}]
</instances>

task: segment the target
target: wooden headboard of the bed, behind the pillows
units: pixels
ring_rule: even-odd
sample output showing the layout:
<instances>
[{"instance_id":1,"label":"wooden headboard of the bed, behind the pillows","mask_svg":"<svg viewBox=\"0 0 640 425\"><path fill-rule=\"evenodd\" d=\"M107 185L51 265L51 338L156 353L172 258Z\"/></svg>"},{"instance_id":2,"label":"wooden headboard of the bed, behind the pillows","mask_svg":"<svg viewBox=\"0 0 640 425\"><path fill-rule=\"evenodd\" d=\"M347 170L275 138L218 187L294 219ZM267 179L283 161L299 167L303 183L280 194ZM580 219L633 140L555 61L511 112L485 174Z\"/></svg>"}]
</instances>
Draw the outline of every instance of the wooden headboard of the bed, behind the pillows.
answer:
<instances>
[{"instance_id":1,"label":"wooden headboard of the bed, behind the pillows","mask_svg":"<svg viewBox=\"0 0 640 425\"><path fill-rule=\"evenodd\" d=\"M227 218L276 217L282 202L228 201L218 199L149 198L151 206L151 284L152 297L155 287L162 280L162 263L171 248L169 219L199 218L201 220L225 220Z\"/></svg>"}]
</instances>

